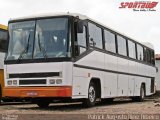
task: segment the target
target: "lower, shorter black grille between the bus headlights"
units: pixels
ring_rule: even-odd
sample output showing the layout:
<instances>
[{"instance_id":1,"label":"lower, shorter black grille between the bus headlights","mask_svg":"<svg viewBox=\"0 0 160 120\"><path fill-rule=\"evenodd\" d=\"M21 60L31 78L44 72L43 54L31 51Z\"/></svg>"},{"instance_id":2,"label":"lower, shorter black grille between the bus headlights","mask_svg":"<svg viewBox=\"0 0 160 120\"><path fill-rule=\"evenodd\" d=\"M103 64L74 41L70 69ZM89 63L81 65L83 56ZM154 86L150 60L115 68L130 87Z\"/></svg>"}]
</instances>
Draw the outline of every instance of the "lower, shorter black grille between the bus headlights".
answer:
<instances>
[{"instance_id":1,"label":"lower, shorter black grille between the bus headlights","mask_svg":"<svg viewBox=\"0 0 160 120\"><path fill-rule=\"evenodd\" d=\"M41 85L46 83L46 79L19 80L19 85Z\"/></svg>"}]
</instances>

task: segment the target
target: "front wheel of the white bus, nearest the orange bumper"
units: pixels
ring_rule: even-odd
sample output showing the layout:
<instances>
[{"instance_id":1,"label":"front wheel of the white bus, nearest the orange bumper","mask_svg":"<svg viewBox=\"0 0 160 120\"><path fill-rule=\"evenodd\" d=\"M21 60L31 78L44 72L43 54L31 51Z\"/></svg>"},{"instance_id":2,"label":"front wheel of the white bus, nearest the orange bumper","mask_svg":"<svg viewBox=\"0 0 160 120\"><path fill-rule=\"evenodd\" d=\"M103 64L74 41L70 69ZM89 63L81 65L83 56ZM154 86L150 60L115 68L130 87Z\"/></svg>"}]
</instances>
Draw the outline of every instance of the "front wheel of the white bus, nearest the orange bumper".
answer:
<instances>
[{"instance_id":1,"label":"front wheel of the white bus, nearest the orange bumper","mask_svg":"<svg viewBox=\"0 0 160 120\"><path fill-rule=\"evenodd\" d=\"M88 88L88 98L84 99L83 105L85 107L94 106L95 102L96 102L96 98L97 98L96 87L95 87L95 84L93 82L91 82L89 84L89 88Z\"/></svg>"}]
</instances>

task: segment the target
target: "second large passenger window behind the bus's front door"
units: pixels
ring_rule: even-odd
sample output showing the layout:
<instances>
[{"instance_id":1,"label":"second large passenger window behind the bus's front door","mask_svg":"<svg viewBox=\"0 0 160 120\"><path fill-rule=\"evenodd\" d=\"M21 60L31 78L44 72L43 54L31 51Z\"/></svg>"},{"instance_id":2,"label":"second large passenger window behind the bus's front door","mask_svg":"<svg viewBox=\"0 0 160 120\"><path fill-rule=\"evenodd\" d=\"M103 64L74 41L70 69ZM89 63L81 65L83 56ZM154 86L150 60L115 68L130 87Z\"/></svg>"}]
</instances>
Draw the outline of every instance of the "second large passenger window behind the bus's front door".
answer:
<instances>
[{"instance_id":1,"label":"second large passenger window behind the bus's front door","mask_svg":"<svg viewBox=\"0 0 160 120\"><path fill-rule=\"evenodd\" d=\"M110 31L104 30L106 50L116 52L115 35Z\"/></svg>"}]
</instances>

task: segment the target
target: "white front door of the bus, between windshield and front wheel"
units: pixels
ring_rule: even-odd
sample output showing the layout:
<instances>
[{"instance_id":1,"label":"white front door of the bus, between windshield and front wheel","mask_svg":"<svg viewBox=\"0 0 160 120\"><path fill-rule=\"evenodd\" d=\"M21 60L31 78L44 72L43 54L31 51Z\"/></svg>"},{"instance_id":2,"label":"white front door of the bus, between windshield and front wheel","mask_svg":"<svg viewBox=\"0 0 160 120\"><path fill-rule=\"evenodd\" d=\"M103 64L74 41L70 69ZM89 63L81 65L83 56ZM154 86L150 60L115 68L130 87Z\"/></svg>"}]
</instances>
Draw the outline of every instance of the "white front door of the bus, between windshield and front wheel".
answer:
<instances>
[{"instance_id":1,"label":"white front door of the bus, between windshield and front wheel","mask_svg":"<svg viewBox=\"0 0 160 120\"><path fill-rule=\"evenodd\" d=\"M86 64L86 57L80 57L87 50L87 27L83 26L83 32L80 33L75 28L74 54L75 63L78 65ZM85 62L86 61L86 62ZM73 67L73 98L87 98L88 94L88 76L85 68ZM88 84L87 84L88 83Z\"/></svg>"}]
</instances>

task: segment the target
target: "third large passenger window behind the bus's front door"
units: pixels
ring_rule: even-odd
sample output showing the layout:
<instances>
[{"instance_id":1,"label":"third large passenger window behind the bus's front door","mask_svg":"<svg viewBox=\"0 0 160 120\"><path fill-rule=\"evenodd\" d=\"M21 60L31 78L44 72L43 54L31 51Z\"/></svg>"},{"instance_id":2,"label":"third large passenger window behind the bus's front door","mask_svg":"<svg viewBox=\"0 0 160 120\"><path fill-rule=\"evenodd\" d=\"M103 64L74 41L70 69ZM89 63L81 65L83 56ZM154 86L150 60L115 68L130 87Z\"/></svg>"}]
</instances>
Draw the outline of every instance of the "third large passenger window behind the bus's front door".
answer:
<instances>
[{"instance_id":1,"label":"third large passenger window behind the bus's front door","mask_svg":"<svg viewBox=\"0 0 160 120\"><path fill-rule=\"evenodd\" d=\"M117 43L118 43L118 53L120 55L127 56L126 39L117 35Z\"/></svg>"}]
</instances>

